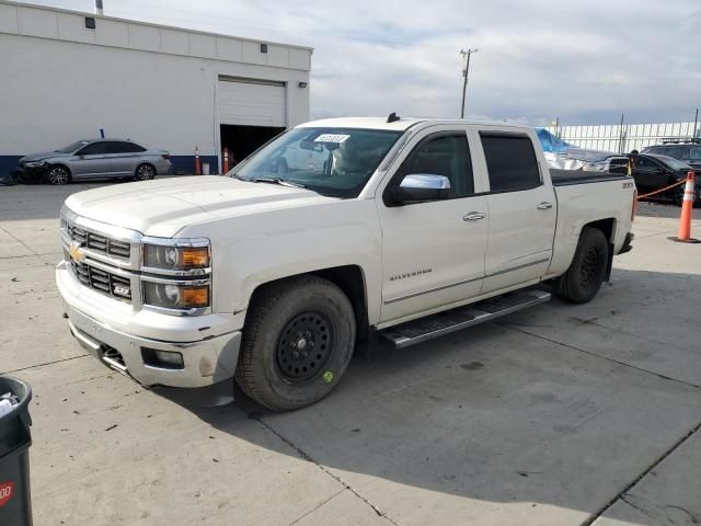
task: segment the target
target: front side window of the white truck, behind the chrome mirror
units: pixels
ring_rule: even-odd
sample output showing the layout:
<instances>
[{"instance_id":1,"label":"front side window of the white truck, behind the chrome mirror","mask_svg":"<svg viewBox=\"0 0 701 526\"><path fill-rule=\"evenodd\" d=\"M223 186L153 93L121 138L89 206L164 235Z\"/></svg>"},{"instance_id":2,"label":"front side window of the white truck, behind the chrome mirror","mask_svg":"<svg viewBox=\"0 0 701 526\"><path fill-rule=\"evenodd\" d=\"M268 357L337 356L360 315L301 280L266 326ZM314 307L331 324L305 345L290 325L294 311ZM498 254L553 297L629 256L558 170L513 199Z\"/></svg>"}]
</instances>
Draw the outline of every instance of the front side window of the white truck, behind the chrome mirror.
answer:
<instances>
[{"instance_id":1,"label":"front side window of the white truck, behind the chrome mirror","mask_svg":"<svg viewBox=\"0 0 701 526\"><path fill-rule=\"evenodd\" d=\"M400 174L445 175L450 181L450 198L474 193L468 138L463 134L439 135L425 139L404 160Z\"/></svg>"}]
</instances>

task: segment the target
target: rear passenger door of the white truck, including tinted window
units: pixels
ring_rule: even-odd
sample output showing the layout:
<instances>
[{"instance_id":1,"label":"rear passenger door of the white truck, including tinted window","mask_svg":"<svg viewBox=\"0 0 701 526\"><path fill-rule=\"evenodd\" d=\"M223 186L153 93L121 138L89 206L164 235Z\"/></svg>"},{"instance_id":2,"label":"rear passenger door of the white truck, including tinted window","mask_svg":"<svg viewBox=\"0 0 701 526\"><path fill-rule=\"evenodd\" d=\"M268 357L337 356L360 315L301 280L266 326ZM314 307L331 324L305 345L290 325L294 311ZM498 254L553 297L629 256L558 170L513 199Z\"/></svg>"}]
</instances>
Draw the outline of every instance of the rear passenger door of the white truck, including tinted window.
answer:
<instances>
[{"instance_id":1,"label":"rear passenger door of the white truck, including tinted window","mask_svg":"<svg viewBox=\"0 0 701 526\"><path fill-rule=\"evenodd\" d=\"M558 207L545 167L526 133L474 132L489 178L490 215L483 293L540 278L550 264Z\"/></svg>"}]
</instances>

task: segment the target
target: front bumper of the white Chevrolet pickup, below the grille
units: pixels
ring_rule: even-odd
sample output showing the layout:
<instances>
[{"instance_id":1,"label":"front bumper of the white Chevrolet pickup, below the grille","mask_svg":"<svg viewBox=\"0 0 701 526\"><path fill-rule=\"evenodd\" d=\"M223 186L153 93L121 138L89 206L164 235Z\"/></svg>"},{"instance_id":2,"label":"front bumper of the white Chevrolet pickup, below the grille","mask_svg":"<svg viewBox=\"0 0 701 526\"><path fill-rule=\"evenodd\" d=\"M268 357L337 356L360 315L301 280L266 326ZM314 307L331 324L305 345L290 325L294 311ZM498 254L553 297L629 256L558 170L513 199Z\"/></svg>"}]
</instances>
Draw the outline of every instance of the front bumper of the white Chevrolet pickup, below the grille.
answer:
<instances>
[{"instance_id":1,"label":"front bumper of the white Chevrolet pickup, below the grille","mask_svg":"<svg viewBox=\"0 0 701 526\"><path fill-rule=\"evenodd\" d=\"M119 310L108 305L118 300L83 287L65 262L56 267L56 283L70 331L78 342L107 366L139 384L198 388L233 377L241 332L231 329L232 319L219 315L173 317ZM184 367L147 365L142 348L181 353ZM120 359L114 358L115 351Z\"/></svg>"}]
</instances>

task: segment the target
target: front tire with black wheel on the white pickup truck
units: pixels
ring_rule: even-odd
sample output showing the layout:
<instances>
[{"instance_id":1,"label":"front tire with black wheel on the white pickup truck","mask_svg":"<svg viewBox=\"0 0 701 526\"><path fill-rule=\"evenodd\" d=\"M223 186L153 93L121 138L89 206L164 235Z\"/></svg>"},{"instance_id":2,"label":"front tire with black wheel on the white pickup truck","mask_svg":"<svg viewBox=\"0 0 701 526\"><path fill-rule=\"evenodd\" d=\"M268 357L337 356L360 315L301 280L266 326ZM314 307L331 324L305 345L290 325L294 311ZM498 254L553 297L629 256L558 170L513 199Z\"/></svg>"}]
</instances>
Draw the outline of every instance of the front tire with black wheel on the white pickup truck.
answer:
<instances>
[{"instance_id":1,"label":"front tire with black wheel on the white pickup truck","mask_svg":"<svg viewBox=\"0 0 701 526\"><path fill-rule=\"evenodd\" d=\"M263 286L246 316L235 381L272 411L310 405L341 380L355 338L353 306L333 283L302 276Z\"/></svg>"}]
</instances>

